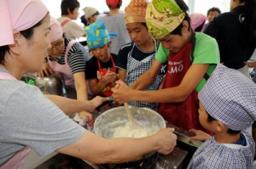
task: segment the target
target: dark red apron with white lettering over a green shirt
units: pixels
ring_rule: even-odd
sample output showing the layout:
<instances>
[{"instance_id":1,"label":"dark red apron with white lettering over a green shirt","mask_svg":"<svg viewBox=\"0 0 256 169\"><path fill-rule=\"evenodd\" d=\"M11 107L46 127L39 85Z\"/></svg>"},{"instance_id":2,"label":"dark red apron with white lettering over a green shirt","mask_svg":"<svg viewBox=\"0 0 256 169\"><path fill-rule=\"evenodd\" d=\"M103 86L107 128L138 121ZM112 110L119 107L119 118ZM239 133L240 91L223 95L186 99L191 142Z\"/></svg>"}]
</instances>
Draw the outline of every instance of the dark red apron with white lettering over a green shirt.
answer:
<instances>
[{"instance_id":1,"label":"dark red apron with white lettering over a green shirt","mask_svg":"<svg viewBox=\"0 0 256 169\"><path fill-rule=\"evenodd\" d=\"M183 76L185 76L191 66L191 49L192 45L191 43L188 43L177 54L172 54L172 52L170 52L163 88L177 87L182 82ZM197 92L194 90L182 103L159 104L158 112L169 124L181 127L185 130L195 128L205 131L199 122L198 108L199 100Z\"/></svg>"}]
</instances>

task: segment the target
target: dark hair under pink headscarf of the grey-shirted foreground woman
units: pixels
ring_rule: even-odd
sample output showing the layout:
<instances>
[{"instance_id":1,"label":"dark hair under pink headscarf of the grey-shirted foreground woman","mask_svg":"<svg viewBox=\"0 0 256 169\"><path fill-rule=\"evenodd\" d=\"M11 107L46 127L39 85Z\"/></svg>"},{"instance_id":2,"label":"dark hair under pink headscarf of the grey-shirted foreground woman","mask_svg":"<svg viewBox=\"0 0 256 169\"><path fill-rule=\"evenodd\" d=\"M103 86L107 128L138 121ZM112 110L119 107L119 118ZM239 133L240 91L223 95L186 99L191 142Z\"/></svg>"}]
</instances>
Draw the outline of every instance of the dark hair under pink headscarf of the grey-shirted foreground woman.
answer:
<instances>
[{"instance_id":1,"label":"dark hair under pink headscarf of the grey-shirted foreground woman","mask_svg":"<svg viewBox=\"0 0 256 169\"><path fill-rule=\"evenodd\" d=\"M48 13L49 14L49 13ZM44 16L44 18L48 15L46 14ZM44 18L42 20L44 20ZM34 34L34 29L36 27L38 27L39 25L42 24L42 20L40 20L36 25L33 25L32 27L24 30L24 31L20 31L20 34L25 37L27 40L30 40ZM0 47L0 64L4 65L5 59L4 56L5 54L9 53L9 45L5 45L5 46L1 46Z\"/></svg>"}]
</instances>

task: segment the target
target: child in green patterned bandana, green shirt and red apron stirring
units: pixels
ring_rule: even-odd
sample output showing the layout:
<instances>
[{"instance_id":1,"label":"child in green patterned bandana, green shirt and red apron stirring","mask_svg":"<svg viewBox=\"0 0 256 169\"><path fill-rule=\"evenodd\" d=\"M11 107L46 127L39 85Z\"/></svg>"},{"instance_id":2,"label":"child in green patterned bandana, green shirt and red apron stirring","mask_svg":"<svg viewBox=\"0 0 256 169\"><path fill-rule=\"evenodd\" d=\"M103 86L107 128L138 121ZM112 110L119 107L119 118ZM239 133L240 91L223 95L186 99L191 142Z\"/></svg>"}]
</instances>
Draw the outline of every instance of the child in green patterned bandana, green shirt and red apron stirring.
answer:
<instances>
[{"instance_id":1,"label":"child in green patterned bandana, green shirt and red apron stirring","mask_svg":"<svg viewBox=\"0 0 256 169\"><path fill-rule=\"evenodd\" d=\"M153 0L148 4L146 23L151 35L161 42L154 64L135 82L143 89L154 81L163 63L168 61L163 88L141 91L116 82L113 98L129 101L158 102L158 112L169 124L183 129L200 128L197 93L219 63L218 45L203 33L192 31L187 5L182 0Z\"/></svg>"}]
</instances>

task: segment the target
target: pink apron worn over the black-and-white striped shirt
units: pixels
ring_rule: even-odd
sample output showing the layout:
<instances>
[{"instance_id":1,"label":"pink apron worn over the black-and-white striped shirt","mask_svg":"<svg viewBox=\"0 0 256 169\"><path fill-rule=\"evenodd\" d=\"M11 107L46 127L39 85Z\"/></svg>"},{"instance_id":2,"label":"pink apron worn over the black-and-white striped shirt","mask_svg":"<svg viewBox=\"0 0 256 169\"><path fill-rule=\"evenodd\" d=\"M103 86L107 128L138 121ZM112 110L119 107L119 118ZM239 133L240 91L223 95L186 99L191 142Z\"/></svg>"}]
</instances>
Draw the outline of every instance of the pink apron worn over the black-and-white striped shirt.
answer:
<instances>
[{"instance_id":1,"label":"pink apron worn over the black-and-white striped shirt","mask_svg":"<svg viewBox=\"0 0 256 169\"><path fill-rule=\"evenodd\" d=\"M65 81L65 85L67 87L73 87L74 88L74 80L73 80L73 74L71 71L70 66L67 64L67 54L68 51L70 50L70 48L73 46L73 43L75 43L76 41L70 41L67 44L67 48L66 48L66 53L65 53L65 65L60 65L58 64L56 61L50 61L49 57L48 57L48 61L49 61L49 66L52 70L61 72L64 81Z\"/></svg>"}]
</instances>

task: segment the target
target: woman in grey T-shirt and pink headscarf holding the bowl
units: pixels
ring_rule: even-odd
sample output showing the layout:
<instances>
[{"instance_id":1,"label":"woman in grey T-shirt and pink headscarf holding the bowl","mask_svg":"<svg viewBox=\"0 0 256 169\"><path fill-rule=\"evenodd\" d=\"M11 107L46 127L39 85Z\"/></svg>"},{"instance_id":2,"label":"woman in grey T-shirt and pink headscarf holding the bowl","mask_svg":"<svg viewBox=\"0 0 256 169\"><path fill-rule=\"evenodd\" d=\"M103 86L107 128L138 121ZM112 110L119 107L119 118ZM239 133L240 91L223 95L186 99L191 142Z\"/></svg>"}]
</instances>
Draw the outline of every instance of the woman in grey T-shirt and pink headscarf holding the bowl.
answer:
<instances>
[{"instance_id":1,"label":"woman in grey T-shirt and pink headscarf holding the bowl","mask_svg":"<svg viewBox=\"0 0 256 169\"><path fill-rule=\"evenodd\" d=\"M107 99L44 95L38 87L20 81L27 72L41 70L48 55L49 12L40 0L1 0L0 13L4 23L0 25L4 32L0 38L1 169L20 169L30 148L38 155L56 151L93 163L133 161L148 152L172 151L176 136L171 128L142 139L101 138L68 115L92 111Z\"/></svg>"}]
</instances>

